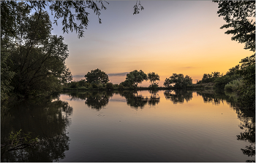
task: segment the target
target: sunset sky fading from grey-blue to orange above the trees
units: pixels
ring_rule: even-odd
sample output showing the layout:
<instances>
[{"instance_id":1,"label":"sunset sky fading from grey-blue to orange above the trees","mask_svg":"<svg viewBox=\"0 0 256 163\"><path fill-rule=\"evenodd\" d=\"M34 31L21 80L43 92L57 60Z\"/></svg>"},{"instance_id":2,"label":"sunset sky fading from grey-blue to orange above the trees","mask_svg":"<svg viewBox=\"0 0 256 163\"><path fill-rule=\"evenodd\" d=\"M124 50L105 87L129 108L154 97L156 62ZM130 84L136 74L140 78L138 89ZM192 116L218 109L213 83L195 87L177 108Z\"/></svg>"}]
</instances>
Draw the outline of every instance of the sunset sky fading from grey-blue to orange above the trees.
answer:
<instances>
[{"instance_id":1,"label":"sunset sky fading from grey-blue to orange above the trees","mask_svg":"<svg viewBox=\"0 0 256 163\"><path fill-rule=\"evenodd\" d=\"M136 1L108 2L102 23L91 12L80 39L75 32L63 33L61 20L53 25L52 33L64 36L69 47L66 65L75 81L99 68L113 84L134 70L158 73L160 87L173 73L188 75L195 83L203 73L225 74L253 55L244 44L232 41L227 29L220 29L225 20L212 1L141 1L144 10L138 15L133 15ZM138 86L148 85L143 81Z\"/></svg>"}]
</instances>

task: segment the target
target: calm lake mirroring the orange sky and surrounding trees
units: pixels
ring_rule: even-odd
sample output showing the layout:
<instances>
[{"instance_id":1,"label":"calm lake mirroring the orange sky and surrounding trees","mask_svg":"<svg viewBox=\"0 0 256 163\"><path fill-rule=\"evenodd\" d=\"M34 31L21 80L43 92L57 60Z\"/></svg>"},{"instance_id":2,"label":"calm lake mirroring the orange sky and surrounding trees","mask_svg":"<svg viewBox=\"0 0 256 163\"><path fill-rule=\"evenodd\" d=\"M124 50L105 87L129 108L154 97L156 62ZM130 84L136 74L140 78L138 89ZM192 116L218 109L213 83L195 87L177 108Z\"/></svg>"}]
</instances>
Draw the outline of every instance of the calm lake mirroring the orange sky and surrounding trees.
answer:
<instances>
[{"instance_id":1,"label":"calm lake mirroring the orange sky and surrounding trees","mask_svg":"<svg viewBox=\"0 0 256 163\"><path fill-rule=\"evenodd\" d=\"M1 142L22 130L32 148L2 162L252 162L255 113L213 91L67 92L1 107Z\"/></svg>"}]
</instances>

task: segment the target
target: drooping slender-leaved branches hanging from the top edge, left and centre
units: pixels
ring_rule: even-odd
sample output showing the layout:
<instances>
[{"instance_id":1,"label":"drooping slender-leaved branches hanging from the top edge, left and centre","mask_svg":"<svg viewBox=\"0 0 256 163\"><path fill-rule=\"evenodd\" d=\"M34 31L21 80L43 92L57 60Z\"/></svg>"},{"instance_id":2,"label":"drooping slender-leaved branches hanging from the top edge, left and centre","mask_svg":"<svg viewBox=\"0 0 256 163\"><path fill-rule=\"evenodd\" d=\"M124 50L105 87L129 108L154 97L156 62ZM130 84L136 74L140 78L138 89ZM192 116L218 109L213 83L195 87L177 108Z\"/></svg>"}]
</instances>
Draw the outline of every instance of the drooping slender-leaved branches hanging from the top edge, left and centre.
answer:
<instances>
[{"instance_id":1,"label":"drooping slender-leaved branches hanging from the top edge, left and centre","mask_svg":"<svg viewBox=\"0 0 256 163\"><path fill-rule=\"evenodd\" d=\"M99 15L101 15L102 9L107 9L105 5L109 3L108 1L24 1L24 4L26 8L37 11L46 10L45 7L48 6L54 15L53 24L58 25L57 21L62 19L63 33L75 31L80 38L83 36L84 29L89 25L89 10L93 11L97 15L99 23L102 23ZM15 18L18 16L17 5L17 1L1 1L1 36L6 33L15 33ZM137 1L133 8L134 15L144 9L140 1Z\"/></svg>"}]
</instances>

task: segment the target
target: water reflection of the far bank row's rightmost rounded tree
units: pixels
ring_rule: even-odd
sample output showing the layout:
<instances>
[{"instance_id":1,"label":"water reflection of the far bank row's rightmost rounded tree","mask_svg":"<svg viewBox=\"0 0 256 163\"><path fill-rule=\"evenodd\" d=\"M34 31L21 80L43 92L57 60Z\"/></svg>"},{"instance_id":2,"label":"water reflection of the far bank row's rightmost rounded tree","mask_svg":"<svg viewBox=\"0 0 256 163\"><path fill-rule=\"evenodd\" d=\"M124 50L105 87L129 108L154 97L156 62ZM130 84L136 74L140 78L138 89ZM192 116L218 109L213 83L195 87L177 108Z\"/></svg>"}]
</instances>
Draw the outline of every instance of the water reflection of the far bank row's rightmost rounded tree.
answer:
<instances>
[{"instance_id":1,"label":"water reflection of the far bank row's rightmost rounded tree","mask_svg":"<svg viewBox=\"0 0 256 163\"><path fill-rule=\"evenodd\" d=\"M165 98L167 100L173 101L173 104L184 103L193 98L192 91L187 90L167 90L164 92Z\"/></svg>"}]
</instances>

